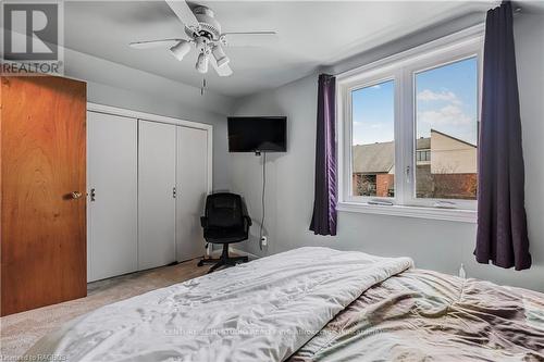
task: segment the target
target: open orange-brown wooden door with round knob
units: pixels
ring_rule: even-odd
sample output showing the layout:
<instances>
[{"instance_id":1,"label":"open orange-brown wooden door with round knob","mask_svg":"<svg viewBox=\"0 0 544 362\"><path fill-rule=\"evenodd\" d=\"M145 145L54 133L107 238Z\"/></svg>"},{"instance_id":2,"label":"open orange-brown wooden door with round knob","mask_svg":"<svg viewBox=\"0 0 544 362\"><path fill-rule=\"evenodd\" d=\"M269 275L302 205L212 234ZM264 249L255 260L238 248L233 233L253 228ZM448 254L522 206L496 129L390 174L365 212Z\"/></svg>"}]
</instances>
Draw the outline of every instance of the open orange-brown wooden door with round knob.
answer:
<instances>
[{"instance_id":1,"label":"open orange-brown wooden door with round knob","mask_svg":"<svg viewBox=\"0 0 544 362\"><path fill-rule=\"evenodd\" d=\"M1 77L1 101L7 315L87 294L86 85L51 76Z\"/></svg>"}]
</instances>

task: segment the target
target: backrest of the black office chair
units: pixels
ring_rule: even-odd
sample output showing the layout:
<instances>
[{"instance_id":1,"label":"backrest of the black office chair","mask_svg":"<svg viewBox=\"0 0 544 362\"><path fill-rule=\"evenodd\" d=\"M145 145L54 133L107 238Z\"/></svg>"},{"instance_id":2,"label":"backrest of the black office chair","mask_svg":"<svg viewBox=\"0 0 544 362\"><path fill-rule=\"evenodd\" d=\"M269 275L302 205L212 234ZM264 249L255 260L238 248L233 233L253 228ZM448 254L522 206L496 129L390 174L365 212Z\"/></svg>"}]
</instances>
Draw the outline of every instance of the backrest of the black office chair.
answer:
<instances>
[{"instance_id":1,"label":"backrest of the black office chair","mask_svg":"<svg viewBox=\"0 0 544 362\"><path fill-rule=\"evenodd\" d=\"M244 228L242 197L236 194L219 192L206 198L208 227Z\"/></svg>"}]
</instances>

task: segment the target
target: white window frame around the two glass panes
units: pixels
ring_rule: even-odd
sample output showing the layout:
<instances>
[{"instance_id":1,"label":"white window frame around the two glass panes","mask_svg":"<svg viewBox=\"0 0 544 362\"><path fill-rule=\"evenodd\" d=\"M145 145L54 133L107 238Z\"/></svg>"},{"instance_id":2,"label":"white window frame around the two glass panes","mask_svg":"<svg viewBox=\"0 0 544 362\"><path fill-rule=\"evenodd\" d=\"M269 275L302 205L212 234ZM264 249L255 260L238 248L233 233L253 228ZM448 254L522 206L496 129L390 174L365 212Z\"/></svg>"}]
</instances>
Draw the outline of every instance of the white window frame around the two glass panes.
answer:
<instances>
[{"instance_id":1,"label":"white window frame around the two glass panes","mask_svg":"<svg viewBox=\"0 0 544 362\"><path fill-rule=\"evenodd\" d=\"M406 52L388 57L369 65L337 76L337 210L412 217L475 223L475 200L423 199L416 197L416 75L458 61L477 57L478 111L480 121L483 27L473 27L458 34L431 41ZM382 82L395 82L395 197L362 197L351 192L351 91ZM393 205L369 204L370 200L385 200ZM440 208L440 201L454 202L455 209ZM444 205L442 203L441 205Z\"/></svg>"}]
</instances>

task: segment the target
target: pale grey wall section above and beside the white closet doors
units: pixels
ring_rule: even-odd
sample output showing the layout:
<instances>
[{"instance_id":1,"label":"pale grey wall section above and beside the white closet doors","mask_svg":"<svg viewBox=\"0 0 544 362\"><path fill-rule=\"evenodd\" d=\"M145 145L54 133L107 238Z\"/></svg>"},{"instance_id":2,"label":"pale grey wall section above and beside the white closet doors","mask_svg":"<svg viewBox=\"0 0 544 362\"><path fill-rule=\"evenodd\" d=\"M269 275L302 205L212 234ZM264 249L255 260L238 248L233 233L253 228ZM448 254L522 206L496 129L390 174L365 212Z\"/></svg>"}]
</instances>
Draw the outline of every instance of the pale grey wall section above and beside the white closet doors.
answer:
<instances>
[{"instance_id":1,"label":"pale grey wall section above and beside the white closet doors","mask_svg":"<svg viewBox=\"0 0 544 362\"><path fill-rule=\"evenodd\" d=\"M213 125L213 189L228 189L226 114L233 99L65 49L65 76L87 82L89 102Z\"/></svg>"}]
</instances>

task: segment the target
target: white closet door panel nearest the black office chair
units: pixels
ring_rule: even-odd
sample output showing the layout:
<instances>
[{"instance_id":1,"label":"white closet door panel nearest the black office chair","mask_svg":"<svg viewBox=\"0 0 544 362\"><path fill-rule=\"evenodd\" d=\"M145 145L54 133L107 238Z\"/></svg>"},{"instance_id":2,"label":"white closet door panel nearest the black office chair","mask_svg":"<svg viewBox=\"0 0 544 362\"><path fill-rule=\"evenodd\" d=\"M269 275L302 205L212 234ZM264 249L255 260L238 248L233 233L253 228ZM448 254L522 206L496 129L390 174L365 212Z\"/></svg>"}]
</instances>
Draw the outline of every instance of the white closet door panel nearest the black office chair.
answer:
<instances>
[{"instance_id":1,"label":"white closet door panel nearest the black office chair","mask_svg":"<svg viewBox=\"0 0 544 362\"><path fill-rule=\"evenodd\" d=\"M201 257L205 240L200 226L208 195L208 132L177 127L177 261Z\"/></svg>"}]
</instances>

